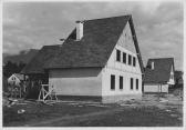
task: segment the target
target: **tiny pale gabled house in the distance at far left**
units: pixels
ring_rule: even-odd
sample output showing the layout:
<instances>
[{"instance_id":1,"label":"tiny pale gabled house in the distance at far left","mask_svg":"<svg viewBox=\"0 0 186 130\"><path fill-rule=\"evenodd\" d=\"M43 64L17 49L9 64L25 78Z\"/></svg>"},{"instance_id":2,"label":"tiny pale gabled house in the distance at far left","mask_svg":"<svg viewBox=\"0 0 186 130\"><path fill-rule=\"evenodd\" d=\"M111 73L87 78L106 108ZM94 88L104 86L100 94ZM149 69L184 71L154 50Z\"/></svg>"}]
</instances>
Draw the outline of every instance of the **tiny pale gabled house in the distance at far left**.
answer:
<instances>
[{"instance_id":1,"label":"tiny pale gabled house in the distance at far left","mask_svg":"<svg viewBox=\"0 0 186 130\"><path fill-rule=\"evenodd\" d=\"M13 73L8 78L8 83L9 84L14 84L14 86L20 86L21 81L24 80L24 76L20 73Z\"/></svg>"}]
</instances>

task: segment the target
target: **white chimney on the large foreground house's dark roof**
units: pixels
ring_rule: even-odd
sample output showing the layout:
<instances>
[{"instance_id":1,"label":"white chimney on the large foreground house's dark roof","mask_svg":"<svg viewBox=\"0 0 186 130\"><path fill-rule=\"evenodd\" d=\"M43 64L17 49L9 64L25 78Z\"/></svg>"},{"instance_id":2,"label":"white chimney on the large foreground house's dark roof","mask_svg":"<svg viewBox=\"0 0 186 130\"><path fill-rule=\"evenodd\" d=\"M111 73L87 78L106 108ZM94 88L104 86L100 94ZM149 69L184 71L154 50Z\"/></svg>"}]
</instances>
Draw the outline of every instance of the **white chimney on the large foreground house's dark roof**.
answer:
<instances>
[{"instance_id":1,"label":"white chimney on the large foreground house's dark roof","mask_svg":"<svg viewBox=\"0 0 186 130\"><path fill-rule=\"evenodd\" d=\"M76 40L83 38L83 21L76 21Z\"/></svg>"}]
</instances>

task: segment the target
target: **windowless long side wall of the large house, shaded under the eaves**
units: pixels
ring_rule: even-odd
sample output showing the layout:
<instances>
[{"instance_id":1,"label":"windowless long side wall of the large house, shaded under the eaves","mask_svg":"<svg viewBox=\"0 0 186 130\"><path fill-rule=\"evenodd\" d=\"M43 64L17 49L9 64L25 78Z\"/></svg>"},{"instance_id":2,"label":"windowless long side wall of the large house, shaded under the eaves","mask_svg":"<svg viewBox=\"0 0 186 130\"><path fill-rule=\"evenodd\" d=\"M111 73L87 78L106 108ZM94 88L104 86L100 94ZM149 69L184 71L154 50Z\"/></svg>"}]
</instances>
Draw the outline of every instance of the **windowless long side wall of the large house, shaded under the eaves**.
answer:
<instances>
[{"instance_id":1,"label":"windowless long side wall of the large house, shaded under the eaves","mask_svg":"<svg viewBox=\"0 0 186 130\"><path fill-rule=\"evenodd\" d=\"M61 96L101 96L101 68L60 69L49 71L49 84Z\"/></svg>"}]
</instances>

